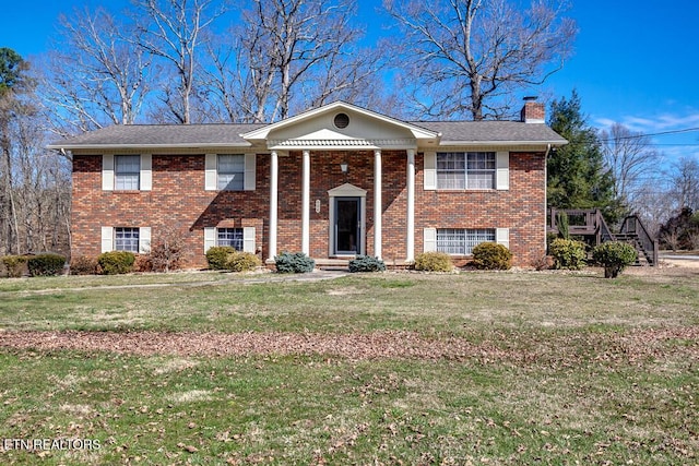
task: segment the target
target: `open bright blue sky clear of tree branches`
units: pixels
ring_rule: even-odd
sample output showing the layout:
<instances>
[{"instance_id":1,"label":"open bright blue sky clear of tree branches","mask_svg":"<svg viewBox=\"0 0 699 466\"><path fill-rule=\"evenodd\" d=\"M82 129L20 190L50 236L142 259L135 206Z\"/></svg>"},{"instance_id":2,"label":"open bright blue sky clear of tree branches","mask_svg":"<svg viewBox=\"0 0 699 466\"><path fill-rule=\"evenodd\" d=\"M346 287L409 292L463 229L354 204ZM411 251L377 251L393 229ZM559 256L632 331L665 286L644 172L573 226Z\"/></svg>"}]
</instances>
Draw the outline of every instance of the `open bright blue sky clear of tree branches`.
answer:
<instances>
[{"instance_id":1,"label":"open bright blue sky clear of tree branches","mask_svg":"<svg viewBox=\"0 0 699 466\"><path fill-rule=\"evenodd\" d=\"M378 2L360 0L362 21L380 28ZM0 47L31 59L46 50L61 12L73 7L127 4L126 0L8 2L0 17ZM580 28L576 52L541 95L570 96L577 88L595 127L618 121L659 133L699 128L699 1L577 0L569 12ZM388 34L377 31L378 34ZM699 158L699 131L654 136L668 160Z\"/></svg>"}]
</instances>

